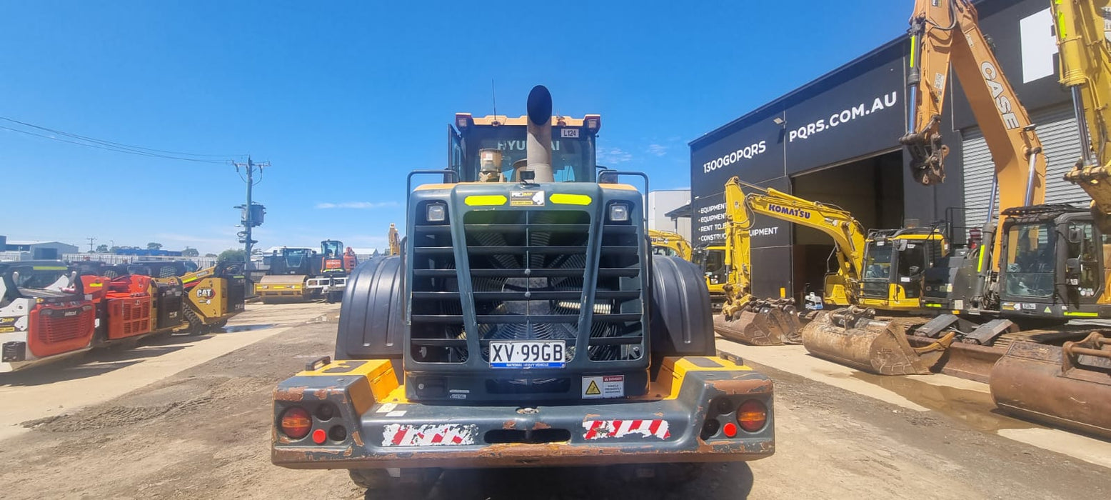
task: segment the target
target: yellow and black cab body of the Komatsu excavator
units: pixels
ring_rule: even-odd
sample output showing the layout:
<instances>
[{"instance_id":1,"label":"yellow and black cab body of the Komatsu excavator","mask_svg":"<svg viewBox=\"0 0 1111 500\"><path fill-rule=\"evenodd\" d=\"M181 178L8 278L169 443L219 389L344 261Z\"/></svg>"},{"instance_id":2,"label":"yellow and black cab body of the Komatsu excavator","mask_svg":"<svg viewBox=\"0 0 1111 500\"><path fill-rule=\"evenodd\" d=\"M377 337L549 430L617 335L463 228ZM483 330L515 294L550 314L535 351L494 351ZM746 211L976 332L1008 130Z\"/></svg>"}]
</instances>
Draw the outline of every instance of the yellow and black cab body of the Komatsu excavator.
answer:
<instances>
[{"instance_id":1,"label":"yellow and black cab body of the Komatsu excavator","mask_svg":"<svg viewBox=\"0 0 1111 500\"><path fill-rule=\"evenodd\" d=\"M872 231L864 247L862 304L918 309L925 271L948 253L945 238L932 228Z\"/></svg>"}]
</instances>

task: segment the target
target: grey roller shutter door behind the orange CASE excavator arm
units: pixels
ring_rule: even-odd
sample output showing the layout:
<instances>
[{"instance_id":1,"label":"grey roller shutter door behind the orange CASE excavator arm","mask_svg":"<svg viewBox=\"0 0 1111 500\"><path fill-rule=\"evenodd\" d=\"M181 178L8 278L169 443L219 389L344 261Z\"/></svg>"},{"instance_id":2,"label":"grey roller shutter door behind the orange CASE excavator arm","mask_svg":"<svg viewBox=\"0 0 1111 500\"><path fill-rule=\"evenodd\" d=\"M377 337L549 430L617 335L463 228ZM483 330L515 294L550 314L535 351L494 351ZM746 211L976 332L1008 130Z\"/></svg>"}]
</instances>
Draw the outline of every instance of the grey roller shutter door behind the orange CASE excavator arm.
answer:
<instances>
[{"instance_id":1,"label":"grey roller shutter door behind the orange CASE excavator arm","mask_svg":"<svg viewBox=\"0 0 1111 500\"><path fill-rule=\"evenodd\" d=\"M1077 118L1072 113L1072 108L1061 106L1039 110L1031 113L1030 119L1038 124L1038 138L1041 139L1042 149L1045 151L1045 202L1087 207L1091 199L1084 190L1063 179L1064 173L1072 169L1080 158ZM984 142L979 127L965 129L962 136L964 223L968 227L979 227L983 224L987 216L995 167L991 162L988 143Z\"/></svg>"}]
</instances>

